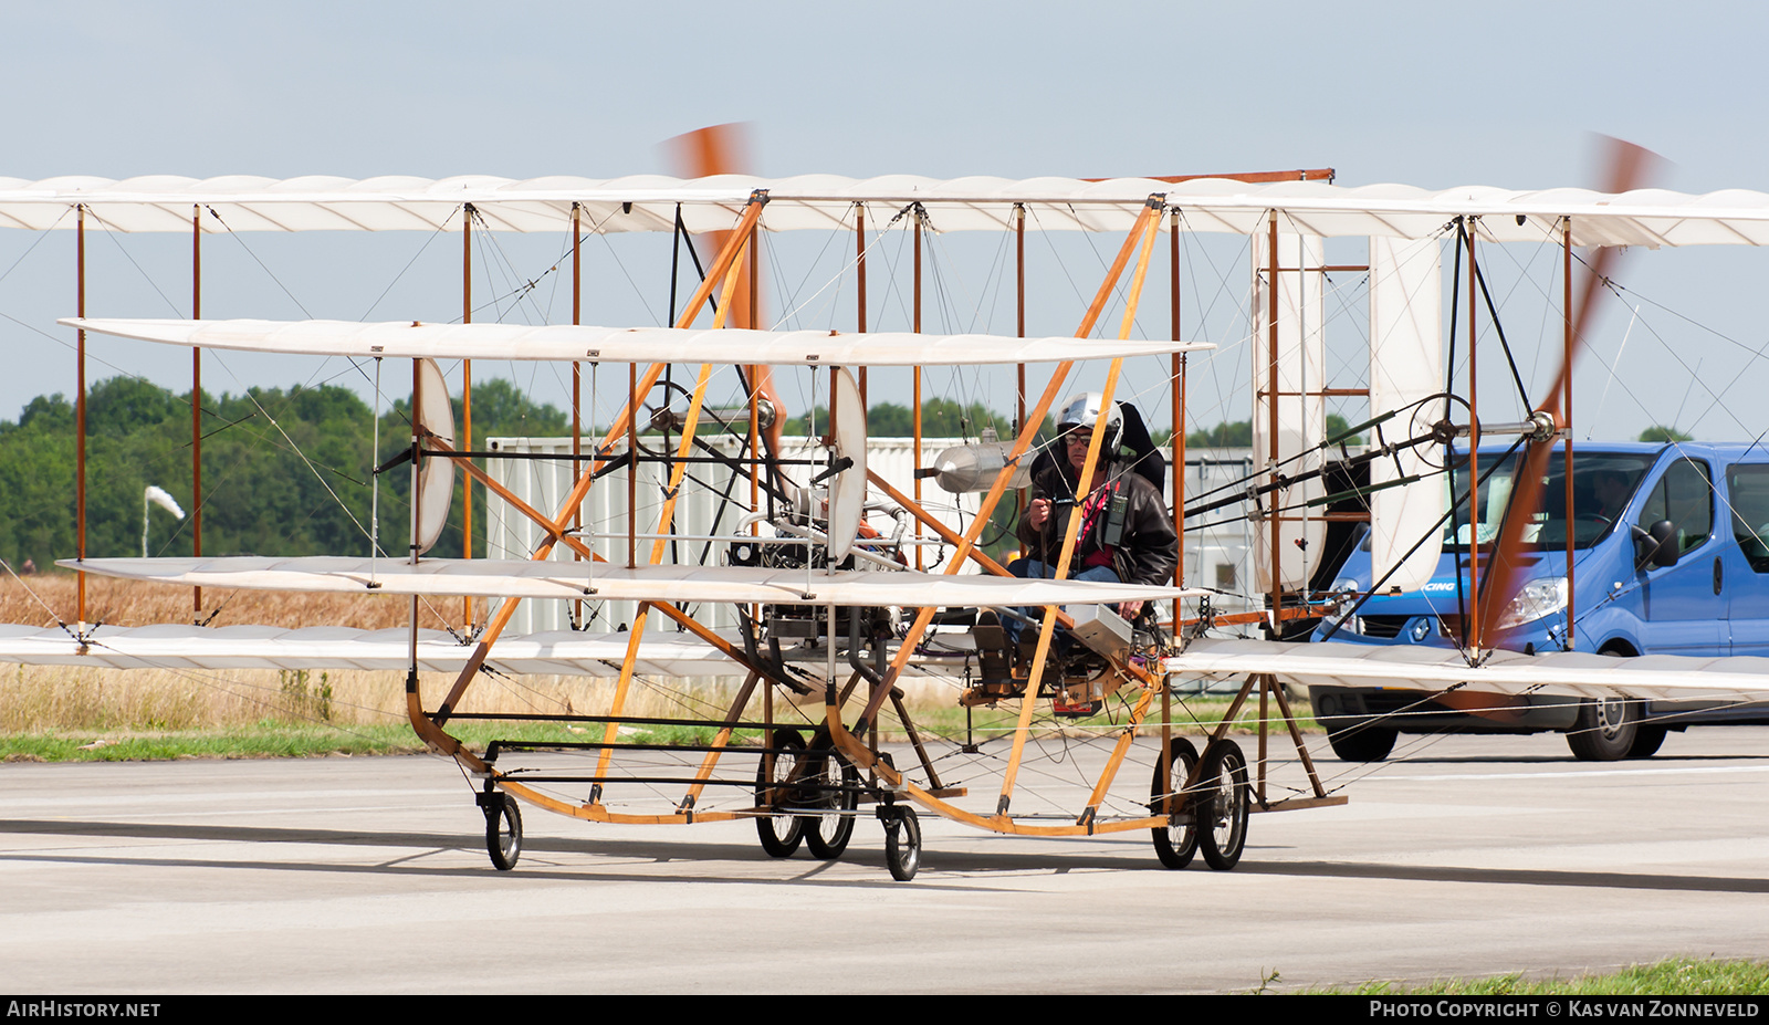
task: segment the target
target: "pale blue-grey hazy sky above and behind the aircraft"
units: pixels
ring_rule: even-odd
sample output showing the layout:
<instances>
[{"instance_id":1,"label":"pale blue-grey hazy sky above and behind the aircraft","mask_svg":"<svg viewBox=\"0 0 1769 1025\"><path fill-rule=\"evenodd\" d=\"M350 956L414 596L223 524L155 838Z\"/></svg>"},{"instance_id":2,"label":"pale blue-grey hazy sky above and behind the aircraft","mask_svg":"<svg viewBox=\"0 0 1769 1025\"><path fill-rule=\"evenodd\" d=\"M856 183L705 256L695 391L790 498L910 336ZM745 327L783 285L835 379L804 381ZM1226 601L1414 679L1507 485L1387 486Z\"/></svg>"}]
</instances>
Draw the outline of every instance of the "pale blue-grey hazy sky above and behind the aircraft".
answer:
<instances>
[{"instance_id":1,"label":"pale blue-grey hazy sky above and behind the aircraft","mask_svg":"<svg viewBox=\"0 0 1769 1025\"><path fill-rule=\"evenodd\" d=\"M1631 2L7 0L0 85L14 103L0 175L674 173L663 140L747 122L761 175L1332 166L1352 186L1594 186L1592 133L1603 133L1663 154L1661 188L1769 189L1769 143L1758 131L1769 124L1769 89L1757 69L1765 21L1750 4ZM71 333L53 326L73 313L71 232L55 235L0 232L0 347L19 368L0 377L5 420L34 395L73 389ZM540 274L559 243L501 241L485 257L485 287L497 287L499 258L511 281ZM1003 329L991 271L998 241L948 244L953 315L976 322L994 301L984 326ZM1072 292L1091 285L1070 281L1097 262L1086 246L1114 241L1063 244L1049 251L1061 271L1038 271L1035 333L1072 329ZM1235 301L1222 296L1244 287L1237 244L1198 253L1221 281L1189 299L1199 310L1189 333L1235 335L1205 310L1224 317ZM92 246L94 315L180 315L186 239ZM205 317L458 312L458 248L410 234L205 246ZM651 267L665 253L667 239L635 243L601 266L586 320L655 322L663 281ZM801 246L796 255L816 253ZM1649 301L1633 324L1620 304L1599 322L1603 356L1581 363L1578 379L1581 395L1603 397L1580 402L1592 411L1589 430L1622 437L1675 421L1721 439L1769 427L1744 402L1769 388L1769 374L1755 377L1765 333L1751 289L1741 287L1765 269L1764 257L1734 248L1629 255L1619 276ZM1523 280L1530 260L1495 260L1495 276L1516 267ZM794 274L794 289L812 280ZM540 315L559 313L554 281ZM1521 322L1514 336L1546 336L1534 308L1509 315ZM99 343L97 359L94 377L129 372L188 388L182 354ZM1217 368L1194 423L1245 418L1242 375ZM230 363L205 370L205 386L345 377Z\"/></svg>"}]
</instances>

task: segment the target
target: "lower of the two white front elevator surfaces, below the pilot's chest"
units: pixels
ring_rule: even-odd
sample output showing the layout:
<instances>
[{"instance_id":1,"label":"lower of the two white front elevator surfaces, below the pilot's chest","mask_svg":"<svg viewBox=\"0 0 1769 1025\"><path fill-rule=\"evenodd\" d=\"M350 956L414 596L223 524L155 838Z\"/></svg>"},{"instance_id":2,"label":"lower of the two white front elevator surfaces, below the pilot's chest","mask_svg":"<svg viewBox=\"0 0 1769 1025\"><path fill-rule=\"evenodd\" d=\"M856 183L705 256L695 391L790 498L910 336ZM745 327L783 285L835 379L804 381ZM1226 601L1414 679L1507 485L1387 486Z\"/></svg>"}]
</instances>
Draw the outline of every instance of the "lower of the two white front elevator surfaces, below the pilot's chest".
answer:
<instances>
[{"instance_id":1,"label":"lower of the two white front elevator surfaces, below the pilot's chest","mask_svg":"<svg viewBox=\"0 0 1769 1025\"><path fill-rule=\"evenodd\" d=\"M1191 598L1205 591L1088 581L943 575L913 570L766 570L747 566L609 566L529 559L366 558L278 559L62 559L88 574L264 591L364 591L384 595L494 595L515 598L596 598L610 602L722 602L785 605L1093 605Z\"/></svg>"}]
</instances>

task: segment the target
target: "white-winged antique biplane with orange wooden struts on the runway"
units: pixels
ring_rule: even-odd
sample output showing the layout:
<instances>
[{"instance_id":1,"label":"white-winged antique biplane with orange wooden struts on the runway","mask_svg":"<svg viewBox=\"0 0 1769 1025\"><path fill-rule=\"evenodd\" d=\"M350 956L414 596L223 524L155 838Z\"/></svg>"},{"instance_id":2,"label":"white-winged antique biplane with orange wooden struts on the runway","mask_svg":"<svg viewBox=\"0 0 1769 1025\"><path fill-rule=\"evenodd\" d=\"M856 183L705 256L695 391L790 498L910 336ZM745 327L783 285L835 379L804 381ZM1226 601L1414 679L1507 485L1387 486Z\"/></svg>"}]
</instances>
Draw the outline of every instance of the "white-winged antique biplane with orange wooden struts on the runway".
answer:
<instances>
[{"instance_id":1,"label":"white-winged antique biplane with orange wooden struts on the runway","mask_svg":"<svg viewBox=\"0 0 1769 1025\"><path fill-rule=\"evenodd\" d=\"M67 632L0 630L0 657L403 669L410 726L467 772L499 869L517 866L527 805L601 823L754 820L775 857L801 844L819 859L840 857L856 823L876 820L899 880L916 875L925 814L1010 836L1150 830L1166 867L1185 867L1194 853L1233 867L1249 813L1346 800L1316 772L1286 685L1405 678L1426 690L1500 697L1640 697L1654 687L1762 694L1769 673L1757 660L1672 659L1619 673L1613 660L1573 650L1495 653L1484 637L1495 636L1507 588L1521 586L1512 528L1475 533L1472 543L1488 545L1475 554L1488 579L1474 584L1477 607L1458 648L1376 655L1298 637L1357 600L1323 581L1348 529L1369 531L1383 586L1429 577L1442 524L1465 501L1440 476L1456 444L1504 439L1525 459L1573 444L1566 374L1514 423L1481 423L1459 393L1442 331L1451 253L1456 267L1463 257L1472 267L1477 243L1532 241L1567 253L1764 244L1769 197L1346 189L1314 181L1321 177L0 181L0 223L87 232L90 214L110 232L191 232L193 246L218 230L566 232L573 283L571 322L540 326L476 322L471 301L449 324L76 310L64 324L81 345L101 333L180 347L196 366L205 352L324 356L371 368L389 395L409 382L410 435L375 474L402 474L412 497L407 536L373 536L354 554L218 558L198 542L189 558L96 558L81 538L64 566L193 588L198 609L202 591L239 588L402 595L412 627L168 634L92 627L81 609ZM584 322L580 248L619 232L715 243L693 253L699 285L672 304L667 326ZM840 239L844 253L851 248L851 258L805 290L856 294L854 329L759 324L757 280L782 232L821 232ZM923 235L936 232L994 232L1003 253L1012 244L1017 335L922 329ZM1070 335L1026 336L1024 241L1037 232L1116 241L1100 251L1104 271L1076 283ZM1180 340L1180 253L1191 234L1244 239L1240 266L1251 281L1244 382L1252 469L1214 501L1185 494L1187 354L1214 349ZM913 287L897 296L913 308L907 331L867 329L867 274L877 296L886 235L913 237ZM1321 351L1323 276L1336 271L1327 241L1341 237L1369 239L1367 264L1353 267L1371 278L1369 374L1355 389L1327 379ZM1566 271L1571 281L1569 260ZM1152 317L1162 306L1152 296L1162 292L1171 313ZM1566 297L1560 358L1569 363L1581 310L1569 283ZM1472 313L1468 320L1472 345ZM471 421L455 423L448 375L460 368L471 382L474 359L570 365L573 386L591 370L624 382L612 416L573 428L561 457L570 487L555 501L538 506L517 494L488 469L511 455L476 448ZM922 388L934 368L1012 381L996 404L1012 405L1010 430L925 460ZM897 482L874 466L869 437L884 374L915 393L915 466ZM1329 432L1327 402L1348 395L1367 402L1367 416ZM1168 423L1141 411L1166 412ZM803 414L803 439L782 435L789 412ZM1357 453L1350 434L1360 435ZM640 489L640 469L658 487ZM476 489L540 538L527 558L472 558L471 526L465 558L428 554L451 505L465 494L471 510ZM593 505L603 496L612 506ZM693 501L713 513L690 529ZM1252 517L1256 572L1240 611L1224 607L1221 581L1187 579L1189 531L1231 501ZM591 508L621 515L598 522L586 515ZM419 602L442 598L463 598L458 641L417 628ZM571 628L517 634L524 602L559 602ZM586 609L600 607L630 614L619 614L619 628L603 620L591 630ZM426 689L421 673L453 682ZM520 673L607 676L612 701L596 715L467 710L490 676ZM646 680L715 676L739 680L715 713L632 712ZM1199 731L1180 685L1206 678L1233 682L1233 696L1194 744L1180 735ZM938 694L959 719L918 722L911 685ZM1249 713L1256 738L1237 740L1231 729ZM980 715L998 726L980 731ZM469 721L508 722L511 738L467 744L451 729ZM575 738L524 740L522 722L566 724ZM1104 754L1079 804L1038 795L1051 738Z\"/></svg>"}]
</instances>

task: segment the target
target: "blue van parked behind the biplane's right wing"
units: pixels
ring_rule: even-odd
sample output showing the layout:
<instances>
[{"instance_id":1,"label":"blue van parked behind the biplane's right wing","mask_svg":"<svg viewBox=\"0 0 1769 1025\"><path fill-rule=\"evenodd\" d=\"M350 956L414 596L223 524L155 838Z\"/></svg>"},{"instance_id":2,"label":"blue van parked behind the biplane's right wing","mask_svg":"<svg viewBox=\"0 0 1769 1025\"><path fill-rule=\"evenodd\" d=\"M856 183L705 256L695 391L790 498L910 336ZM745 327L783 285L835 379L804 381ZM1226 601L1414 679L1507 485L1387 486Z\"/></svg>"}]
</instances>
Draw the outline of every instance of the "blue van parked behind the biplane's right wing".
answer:
<instances>
[{"instance_id":1,"label":"blue van parked behind the biplane's right wing","mask_svg":"<svg viewBox=\"0 0 1769 1025\"><path fill-rule=\"evenodd\" d=\"M1468 613L1468 543L1481 570L1511 496L1521 450L1479 450L1486 478L1444 529L1431 581L1408 593L1348 602L1314 641L1458 646ZM1467 453L1447 476L1468 487ZM1498 464L1497 469L1495 462ZM1488 471L1491 474L1488 476ZM1525 533L1527 579L1498 621L1493 648L1557 651L1571 630L1578 651L1604 655L1769 655L1769 448L1764 444L1606 444L1573 451L1573 512L1566 517L1566 455L1548 464L1544 510ZM1574 621L1567 623L1566 540L1573 531ZM1352 552L1337 591L1371 586L1369 538ZM1355 605L1355 607L1353 607ZM1398 733L1564 731L1590 761L1647 758L1668 729L1765 724L1769 705L1725 701L1578 701L1523 696L1475 712L1467 699L1387 687L1309 687L1314 715L1346 761L1380 761Z\"/></svg>"}]
</instances>

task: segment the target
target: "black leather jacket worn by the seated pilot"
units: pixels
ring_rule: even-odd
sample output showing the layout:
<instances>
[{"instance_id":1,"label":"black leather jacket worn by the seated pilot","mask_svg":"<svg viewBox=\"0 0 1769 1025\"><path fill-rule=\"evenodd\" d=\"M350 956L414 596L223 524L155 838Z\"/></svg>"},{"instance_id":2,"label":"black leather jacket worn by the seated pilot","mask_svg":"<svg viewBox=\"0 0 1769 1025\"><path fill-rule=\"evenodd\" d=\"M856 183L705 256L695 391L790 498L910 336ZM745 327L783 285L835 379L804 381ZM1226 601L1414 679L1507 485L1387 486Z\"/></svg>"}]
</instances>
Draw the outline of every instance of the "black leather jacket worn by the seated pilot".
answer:
<instances>
[{"instance_id":1,"label":"black leather jacket worn by the seated pilot","mask_svg":"<svg viewBox=\"0 0 1769 1025\"><path fill-rule=\"evenodd\" d=\"M1173 568L1180 561L1180 536L1173 533L1173 517L1168 515L1168 503L1160 490L1143 474L1114 464L1107 473L1106 487L1118 489L1129 497L1123 517L1123 536L1113 551L1113 570L1125 584L1171 584ZM1031 513L1019 520L1019 540L1026 543L1031 558L1054 566L1063 554L1063 531L1068 528L1068 515L1077 503L1072 499L1076 478L1065 466L1049 466L1031 480L1031 497L1053 499L1051 519L1044 520L1044 529L1031 528ZM1107 510L1111 503L1107 501ZM1093 517L1093 529L1088 536L1076 540L1076 554L1070 559L1070 575L1083 559L1100 551L1102 536L1109 515Z\"/></svg>"}]
</instances>

